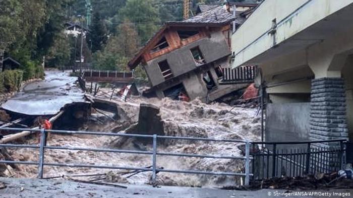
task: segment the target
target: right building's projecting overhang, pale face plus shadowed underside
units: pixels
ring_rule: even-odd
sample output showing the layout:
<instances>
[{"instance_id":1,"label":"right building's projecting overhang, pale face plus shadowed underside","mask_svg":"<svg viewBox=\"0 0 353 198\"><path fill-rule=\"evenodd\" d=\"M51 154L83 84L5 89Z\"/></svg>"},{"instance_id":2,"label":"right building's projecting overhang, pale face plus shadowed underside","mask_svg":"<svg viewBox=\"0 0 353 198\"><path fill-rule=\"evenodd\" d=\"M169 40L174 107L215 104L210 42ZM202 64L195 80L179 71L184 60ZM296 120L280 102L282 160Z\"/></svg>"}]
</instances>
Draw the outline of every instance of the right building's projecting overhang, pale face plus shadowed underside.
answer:
<instances>
[{"instance_id":1,"label":"right building's projecting overhang, pale face plus shadowed underside","mask_svg":"<svg viewBox=\"0 0 353 198\"><path fill-rule=\"evenodd\" d=\"M245 64L261 64L276 57L306 49L334 37L337 33L352 29L349 24L353 24L353 0L301 2L302 4L298 4L297 8L289 8L289 12L282 17L275 14L270 17L263 16L271 15L268 12L271 5L268 4L272 3L272 6L281 8L283 6L281 4L285 4L286 1L263 2L233 34L232 68ZM277 19L277 23L271 27L271 21L268 19L272 18ZM255 34L251 36L249 31L252 30L255 21L267 23L269 26L267 29L258 30L257 36L254 36Z\"/></svg>"}]
</instances>

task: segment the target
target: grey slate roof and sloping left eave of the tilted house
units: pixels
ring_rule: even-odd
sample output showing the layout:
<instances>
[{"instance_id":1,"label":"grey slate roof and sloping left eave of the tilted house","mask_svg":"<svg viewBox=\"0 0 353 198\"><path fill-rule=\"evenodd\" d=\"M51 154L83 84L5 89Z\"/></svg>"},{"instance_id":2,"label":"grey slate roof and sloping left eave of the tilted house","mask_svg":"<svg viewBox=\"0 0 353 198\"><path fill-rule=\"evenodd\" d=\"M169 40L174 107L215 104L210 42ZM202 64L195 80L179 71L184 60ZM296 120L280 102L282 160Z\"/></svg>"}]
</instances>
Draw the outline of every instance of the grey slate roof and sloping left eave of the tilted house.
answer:
<instances>
[{"instance_id":1,"label":"grey slate roof and sloping left eave of the tilted house","mask_svg":"<svg viewBox=\"0 0 353 198\"><path fill-rule=\"evenodd\" d=\"M167 28L169 27L205 27L205 26L223 26L229 24L231 21L236 20L234 16L226 12L226 10L222 6L214 7L210 10L202 12L190 19L184 21L173 21L166 22L158 32L156 32L147 42L146 44L139 50L139 52L131 59L128 63L130 69L134 69L141 61L141 56L151 43L157 39ZM238 20L236 20L237 22Z\"/></svg>"}]
</instances>

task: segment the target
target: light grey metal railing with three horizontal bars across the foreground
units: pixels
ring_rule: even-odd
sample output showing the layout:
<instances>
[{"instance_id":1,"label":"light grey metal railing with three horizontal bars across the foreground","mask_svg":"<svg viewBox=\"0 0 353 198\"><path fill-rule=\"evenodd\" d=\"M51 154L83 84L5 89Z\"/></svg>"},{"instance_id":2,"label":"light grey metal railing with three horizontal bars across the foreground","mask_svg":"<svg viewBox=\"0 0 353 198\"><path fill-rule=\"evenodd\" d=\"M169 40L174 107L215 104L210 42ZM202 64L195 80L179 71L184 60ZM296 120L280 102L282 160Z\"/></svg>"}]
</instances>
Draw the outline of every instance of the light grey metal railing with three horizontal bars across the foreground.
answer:
<instances>
[{"instance_id":1,"label":"light grey metal railing with three horizontal bars across the foreground","mask_svg":"<svg viewBox=\"0 0 353 198\"><path fill-rule=\"evenodd\" d=\"M29 164L38 165L38 178L43 178L44 166L64 166L64 167L86 167L86 168L105 168L105 169L123 169L123 170L141 170L141 171L152 171L152 183L156 182L157 172L171 172L171 173L189 173L189 174L206 174L206 175L226 175L226 176L242 176L245 177L245 184L249 184L250 177L253 175L250 173L250 142L245 140L221 140L211 138L196 138L196 137L174 137L174 136L159 136L159 135L138 135L138 134L123 134L123 133L104 133L104 132L83 132L83 131L60 131L60 130L38 130L38 129L18 129L18 128L1 128L1 131L30 131L33 133L41 133L40 145L17 145L17 144L0 144L0 147L9 148L33 148L39 149L39 160L38 161L10 161L0 160L0 163L8 164ZM61 146L46 146L44 143L47 133L61 134L61 135L96 135L96 136L115 136L115 137L127 137L127 138L148 138L152 139L153 149L152 151L140 151L140 150L124 150L124 149L105 149L105 148L81 148L81 147L61 147ZM200 155L200 154L189 154L189 153L168 153L168 152L157 152L157 140L190 140L190 141L206 141L206 142L231 142L231 143L245 143L245 156L226 156L226 155ZM130 153L130 154L143 154L152 156L151 168L146 167L129 167L129 166L117 166L117 165L96 165L96 164L70 164L70 163L47 163L44 161L44 151L48 149L56 150L78 150L78 151L93 151L93 152L113 152L113 153ZM203 170L177 170L177 169L164 169L156 166L157 156L181 156L181 157L198 157L198 158L215 158L215 159L239 159L245 161L244 172L213 172Z\"/></svg>"}]
</instances>

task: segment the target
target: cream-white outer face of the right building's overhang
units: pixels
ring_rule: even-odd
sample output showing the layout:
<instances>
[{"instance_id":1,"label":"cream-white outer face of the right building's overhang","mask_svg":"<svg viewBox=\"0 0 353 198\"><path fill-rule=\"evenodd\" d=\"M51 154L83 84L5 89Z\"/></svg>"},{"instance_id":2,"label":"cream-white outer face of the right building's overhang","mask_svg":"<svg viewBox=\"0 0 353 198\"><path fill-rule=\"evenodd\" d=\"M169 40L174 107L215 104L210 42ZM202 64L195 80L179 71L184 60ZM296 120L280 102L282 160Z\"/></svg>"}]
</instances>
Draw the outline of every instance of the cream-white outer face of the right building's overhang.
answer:
<instances>
[{"instance_id":1,"label":"cream-white outer face of the right building's overhang","mask_svg":"<svg viewBox=\"0 0 353 198\"><path fill-rule=\"evenodd\" d=\"M353 0L265 0L232 35L232 67L240 66L303 31L325 17L353 3ZM275 37L268 34L276 19Z\"/></svg>"}]
</instances>

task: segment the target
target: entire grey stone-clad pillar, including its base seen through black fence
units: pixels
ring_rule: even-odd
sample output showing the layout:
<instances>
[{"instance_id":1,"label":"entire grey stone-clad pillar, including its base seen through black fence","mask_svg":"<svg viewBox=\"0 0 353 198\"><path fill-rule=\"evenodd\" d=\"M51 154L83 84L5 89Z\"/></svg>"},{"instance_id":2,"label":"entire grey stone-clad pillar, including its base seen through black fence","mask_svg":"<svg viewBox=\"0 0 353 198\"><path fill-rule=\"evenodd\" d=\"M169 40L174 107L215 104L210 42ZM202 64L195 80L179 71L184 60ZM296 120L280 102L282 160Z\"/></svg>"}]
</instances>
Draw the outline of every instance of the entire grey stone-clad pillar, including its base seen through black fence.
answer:
<instances>
[{"instance_id":1,"label":"entire grey stone-clad pillar, including its base seen through black fence","mask_svg":"<svg viewBox=\"0 0 353 198\"><path fill-rule=\"evenodd\" d=\"M343 78L324 77L312 80L310 112L310 139L334 140L346 139L348 129L346 124L345 86ZM339 148L338 142L312 144L314 151ZM315 150L316 149L316 150ZM331 153L320 157L314 155L311 167L325 167L333 171L339 167L339 155Z\"/></svg>"}]
</instances>

